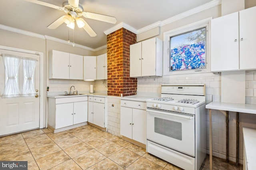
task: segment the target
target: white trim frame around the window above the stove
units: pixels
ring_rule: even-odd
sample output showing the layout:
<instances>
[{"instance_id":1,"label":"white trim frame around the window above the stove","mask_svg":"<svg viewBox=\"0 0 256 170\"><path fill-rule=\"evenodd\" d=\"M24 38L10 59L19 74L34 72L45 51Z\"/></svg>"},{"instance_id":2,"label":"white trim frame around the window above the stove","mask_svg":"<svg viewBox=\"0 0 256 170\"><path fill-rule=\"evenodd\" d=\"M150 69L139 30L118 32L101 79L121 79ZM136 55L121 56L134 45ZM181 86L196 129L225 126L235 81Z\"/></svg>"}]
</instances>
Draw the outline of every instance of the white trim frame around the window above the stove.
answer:
<instances>
[{"instance_id":1,"label":"white trim frame around the window above the stove","mask_svg":"<svg viewBox=\"0 0 256 170\"><path fill-rule=\"evenodd\" d=\"M180 74L191 74L191 73L209 73L210 69L210 20L212 17L206 18L204 20L200 20L198 22L194 22L192 24L188 24L186 26L182 26L180 28L176 28L170 30L168 32L164 32L163 34L163 75L180 75ZM196 70L180 70L180 71L170 71L170 37L176 36L178 34L183 34L186 32L190 32L196 30L198 28L206 27L206 56L205 56L205 66L204 69L196 69Z\"/></svg>"}]
</instances>

